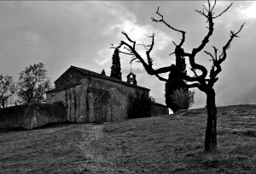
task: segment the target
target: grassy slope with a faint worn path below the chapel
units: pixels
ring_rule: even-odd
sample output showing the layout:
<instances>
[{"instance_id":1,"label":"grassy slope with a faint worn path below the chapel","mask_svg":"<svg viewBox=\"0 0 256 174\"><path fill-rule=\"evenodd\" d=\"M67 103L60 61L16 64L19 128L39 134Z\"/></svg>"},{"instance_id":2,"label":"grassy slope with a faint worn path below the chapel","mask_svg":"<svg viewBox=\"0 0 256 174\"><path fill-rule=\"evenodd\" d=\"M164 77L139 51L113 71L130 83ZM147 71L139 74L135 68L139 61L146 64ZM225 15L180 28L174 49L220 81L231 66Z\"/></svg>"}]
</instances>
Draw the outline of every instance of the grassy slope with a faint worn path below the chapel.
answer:
<instances>
[{"instance_id":1,"label":"grassy slope with a faint worn path below the chapel","mask_svg":"<svg viewBox=\"0 0 256 174\"><path fill-rule=\"evenodd\" d=\"M218 108L218 153L203 154L207 113L0 132L0 173L255 173L256 105Z\"/></svg>"}]
</instances>

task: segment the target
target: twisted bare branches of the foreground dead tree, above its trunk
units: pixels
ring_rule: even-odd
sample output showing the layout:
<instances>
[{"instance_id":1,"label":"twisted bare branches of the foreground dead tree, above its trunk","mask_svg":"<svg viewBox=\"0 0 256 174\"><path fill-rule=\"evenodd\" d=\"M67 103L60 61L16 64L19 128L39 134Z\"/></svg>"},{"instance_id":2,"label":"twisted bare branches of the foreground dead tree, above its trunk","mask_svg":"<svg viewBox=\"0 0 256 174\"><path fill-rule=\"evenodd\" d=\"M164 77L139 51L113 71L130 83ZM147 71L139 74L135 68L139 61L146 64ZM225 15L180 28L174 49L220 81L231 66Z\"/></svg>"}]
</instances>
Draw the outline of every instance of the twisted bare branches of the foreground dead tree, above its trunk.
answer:
<instances>
[{"instance_id":1,"label":"twisted bare branches of the foreground dead tree, above its trunk","mask_svg":"<svg viewBox=\"0 0 256 174\"><path fill-rule=\"evenodd\" d=\"M207 5L208 5L208 7L207 7ZM202 39L201 44L197 48L194 48L192 50L192 53L185 53L182 48L183 42L185 41L185 33L186 32L182 31L182 30L177 30L177 28L174 28L172 25L169 25L168 23L166 23L166 20L164 20L164 15L160 14L159 7L157 8L156 14L160 17L160 20L156 20L156 19L152 18L152 21L160 22L160 23L166 25L172 31L177 31L182 34L182 39L178 44L176 44L176 42L173 42L173 44L176 47L174 53L175 53L176 58L189 57L189 64L191 65L191 70L192 70L192 72L194 72L195 76L184 75L180 70L177 69L177 67L175 65L161 67L159 69L154 70L153 59L150 57L150 53L152 52L152 50L154 48L154 34L152 36L145 35L152 39L150 44L145 44L144 42L142 44L137 44L137 45L143 46L146 49L147 60L143 59L143 57L139 53L137 53L136 42L131 40L131 37L129 37L125 33L125 31L122 31L122 34L125 35L126 39L129 42L121 41L117 48L125 48L127 51L126 54L133 56L131 59L131 62L138 60L139 62L141 62L143 64L143 67L148 72L148 75L151 75L151 76L154 75L154 76L158 77L160 81L168 81L166 78L160 76L160 74L166 73L166 72L173 72L180 79L192 82L192 84L189 84L188 87L198 87L201 91L206 92L208 87L212 87L214 85L214 83L216 81L218 81L218 78L216 76L221 71L220 65L226 58L226 50L228 48L230 48L230 42L233 40L234 37L237 37L238 33L240 33L240 31L242 30L243 25L244 25L244 24L241 25L240 29L236 32L230 31L230 33L231 33L230 40L222 48L222 53L220 54L219 57L218 57L218 48L216 48L216 47L212 47L213 53L204 51L212 59L212 69L210 70L210 77L209 77L209 79L207 79L206 77L207 77L208 72L207 72L206 67L203 65L196 64L195 56L197 53L201 52L201 50L203 48L205 48L205 46L209 42L209 39L212 36L213 30L214 30L213 20L215 18L218 18L225 12L227 12L229 10L229 8L231 7L232 3L227 8L225 8L220 14L218 14L214 17L213 17L214 13L212 13L212 11L216 7L216 0L214 1L213 5L211 5L210 1L207 0L207 5L203 4L202 5L203 8L201 10L195 10L197 13L199 13L202 16L207 18L207 23L208 23L207 30L208 31L207 31L207 35ZM112 48L113 48L113 45L112 45ZM119 53L125 53L125 52L119 52ZM173 53L171 53L170 55L172 55L172 54ZM201 70L201 73L199 73L200 75L197 74L198 73L197 70Z\"/></svg>"}]
</instances>

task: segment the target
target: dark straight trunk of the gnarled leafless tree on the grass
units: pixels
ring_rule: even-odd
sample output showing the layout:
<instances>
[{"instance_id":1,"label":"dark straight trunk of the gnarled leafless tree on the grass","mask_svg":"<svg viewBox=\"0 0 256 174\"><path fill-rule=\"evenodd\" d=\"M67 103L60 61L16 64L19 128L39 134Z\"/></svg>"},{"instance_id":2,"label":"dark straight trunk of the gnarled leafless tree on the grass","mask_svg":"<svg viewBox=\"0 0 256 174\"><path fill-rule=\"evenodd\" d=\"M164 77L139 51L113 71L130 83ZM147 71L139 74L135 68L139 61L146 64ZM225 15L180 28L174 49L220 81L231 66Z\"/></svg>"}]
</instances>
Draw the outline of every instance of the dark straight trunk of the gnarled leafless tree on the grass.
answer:
<instances>
[{"instance_id":1,"label":"dark straight trunk of the gnarled leafless tree on the grass","mask_svg":"<svg viewBox=\"0 0 256 174\"><path fill-rule=\"evenodd\" d=\"M207 131L205 138L205 152L214 153L217 149L217 108L214 89L207 92Z\"/></svg>"}]
</instances>

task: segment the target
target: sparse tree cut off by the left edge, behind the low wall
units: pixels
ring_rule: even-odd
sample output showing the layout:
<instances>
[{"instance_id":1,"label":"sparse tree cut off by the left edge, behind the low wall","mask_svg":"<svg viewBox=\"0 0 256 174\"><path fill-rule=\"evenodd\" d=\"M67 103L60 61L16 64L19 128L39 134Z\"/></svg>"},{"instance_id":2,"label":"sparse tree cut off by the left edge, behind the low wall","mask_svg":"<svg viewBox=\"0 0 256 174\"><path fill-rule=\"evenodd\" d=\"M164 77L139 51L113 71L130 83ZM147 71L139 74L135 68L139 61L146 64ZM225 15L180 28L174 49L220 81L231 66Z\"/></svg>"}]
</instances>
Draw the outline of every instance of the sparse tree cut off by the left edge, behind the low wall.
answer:
<instances>
[{"instance_id":1,"label":"sparse tree cut off by the left edge, behind the low wall","mask_svg":"<svg viewBox=\"0 0 256 174\"><path fill-rule=\"evenodd\" d=\"M0 75L0 104L5 108L9 103L9 98L16 92L16 85L12 76Z\"/></svg>"}]
</instances>

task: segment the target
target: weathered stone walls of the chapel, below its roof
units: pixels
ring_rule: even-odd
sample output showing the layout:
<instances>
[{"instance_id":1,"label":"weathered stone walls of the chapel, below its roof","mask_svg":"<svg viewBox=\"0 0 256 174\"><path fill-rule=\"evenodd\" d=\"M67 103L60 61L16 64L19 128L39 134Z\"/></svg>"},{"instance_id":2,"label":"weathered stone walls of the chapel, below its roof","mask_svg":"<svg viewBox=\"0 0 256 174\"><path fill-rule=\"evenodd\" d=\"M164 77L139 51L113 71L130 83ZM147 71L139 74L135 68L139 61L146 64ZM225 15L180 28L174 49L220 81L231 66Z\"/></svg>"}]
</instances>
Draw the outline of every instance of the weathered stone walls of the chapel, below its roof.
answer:
<instances>
[{"instance_id":1,"label":"weathered stone walls of the chapel, below its roof","mask_svg":"<svg viewBox=\"0 0 256 174\"><path fill-rule=\"evenodd\" d=\"M67 106L67 121L121 121L127 119L129 98L149 97L149 90L96 77L84 77L80 84L46 93L47 103Z\"/></svg>"}]
</instances>

